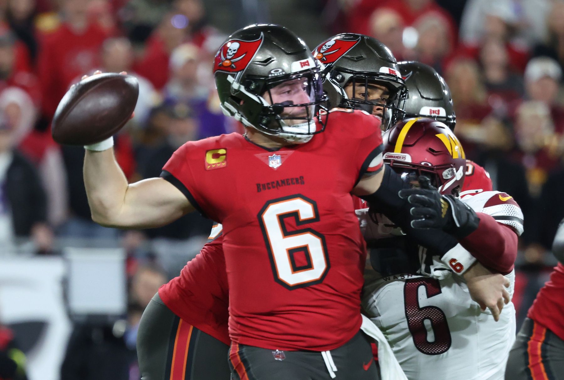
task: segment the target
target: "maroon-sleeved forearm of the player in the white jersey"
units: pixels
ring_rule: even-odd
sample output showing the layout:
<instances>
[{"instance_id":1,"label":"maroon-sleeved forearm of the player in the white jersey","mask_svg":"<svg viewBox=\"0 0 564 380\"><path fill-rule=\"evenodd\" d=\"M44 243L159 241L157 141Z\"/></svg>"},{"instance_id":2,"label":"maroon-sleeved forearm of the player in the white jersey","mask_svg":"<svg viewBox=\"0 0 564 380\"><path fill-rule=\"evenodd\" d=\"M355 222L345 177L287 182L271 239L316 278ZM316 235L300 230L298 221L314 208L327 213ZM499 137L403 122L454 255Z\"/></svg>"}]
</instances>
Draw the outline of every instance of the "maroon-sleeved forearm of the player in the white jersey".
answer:
<instances>
[{"instance_id":1,"label":"maroon-sleeved forearm of the player in the white jersey","mask_svg":"<svg viewBox=\"0 0 564 380\"><path fill-rule=\"evenodd\" d=\"M490 215L476 213L480 221L470 235L459 239L460 245L470 251L483 266L500 273L513 270L517 258L517 234Z\"/></svg>"}]
</instances>

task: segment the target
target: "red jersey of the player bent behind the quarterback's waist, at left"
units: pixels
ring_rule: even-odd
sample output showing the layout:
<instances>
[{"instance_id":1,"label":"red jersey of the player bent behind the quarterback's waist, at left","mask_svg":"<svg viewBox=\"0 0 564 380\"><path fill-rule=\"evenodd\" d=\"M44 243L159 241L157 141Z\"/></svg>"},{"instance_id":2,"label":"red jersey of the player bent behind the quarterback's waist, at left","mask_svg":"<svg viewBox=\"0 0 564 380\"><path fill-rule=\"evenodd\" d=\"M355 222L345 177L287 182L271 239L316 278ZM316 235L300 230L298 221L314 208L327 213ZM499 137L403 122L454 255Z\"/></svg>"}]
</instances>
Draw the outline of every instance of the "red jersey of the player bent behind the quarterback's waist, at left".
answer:
<instances>
[{"instance_id":1,"label":"red jersey of the player bent behind the quarterback's waist, at left","mask_svg":"<svg viewBox=\"0 0 564 380\"><path fill-rule=\"evenodd\" d=\"M223 258L221 224L214 226L204 248L180 271L180 276L158 289L173 313L204 333L229 345L229 294Z\"/></svg>"}]
</instances>

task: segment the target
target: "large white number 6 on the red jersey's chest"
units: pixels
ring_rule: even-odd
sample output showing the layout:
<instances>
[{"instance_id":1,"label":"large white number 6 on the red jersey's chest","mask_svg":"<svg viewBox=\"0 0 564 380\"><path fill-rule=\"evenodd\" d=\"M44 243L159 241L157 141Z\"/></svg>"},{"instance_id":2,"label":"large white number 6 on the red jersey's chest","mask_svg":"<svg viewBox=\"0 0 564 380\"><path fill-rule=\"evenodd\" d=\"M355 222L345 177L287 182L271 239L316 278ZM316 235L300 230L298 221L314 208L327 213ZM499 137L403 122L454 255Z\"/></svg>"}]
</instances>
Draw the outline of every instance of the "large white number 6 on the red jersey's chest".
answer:
<instances>
[{"instance_id":1,"label":"large white number 6 on the red jersey's chest","mask_svg":"<svg viewBox=\"0 0 564 380\"><path fill-rule=\"evenodd\" d=\"M289 218L293 220L287 222ZM314 229L299 228L319 222L315 201L303 195L268 201L258 213L258 221L276 282L293 290L323 281L329 270L325 237ZM288 231L287 223L297 229Z\"/></svg>"}]
</instances>

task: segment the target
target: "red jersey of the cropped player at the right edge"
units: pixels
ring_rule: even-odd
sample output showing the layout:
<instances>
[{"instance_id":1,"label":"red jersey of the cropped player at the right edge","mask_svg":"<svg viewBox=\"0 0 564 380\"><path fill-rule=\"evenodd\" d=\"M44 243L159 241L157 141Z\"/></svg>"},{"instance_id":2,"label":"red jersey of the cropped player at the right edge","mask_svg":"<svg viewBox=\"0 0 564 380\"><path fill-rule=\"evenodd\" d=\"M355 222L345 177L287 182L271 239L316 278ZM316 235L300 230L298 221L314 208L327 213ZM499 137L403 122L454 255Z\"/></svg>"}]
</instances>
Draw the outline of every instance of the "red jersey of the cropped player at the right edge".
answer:
<instances>
[{"instance_id":1,"label":"red jersey of the cropped player at the right edge","mask_svg":"<svg viewBox=\"0 0 564 380\"><path fill-rule=\"evenodd\" d=\"M564 340L564 265L558 263L537 294L527 317Z\"/></svg>"}]
</instances>

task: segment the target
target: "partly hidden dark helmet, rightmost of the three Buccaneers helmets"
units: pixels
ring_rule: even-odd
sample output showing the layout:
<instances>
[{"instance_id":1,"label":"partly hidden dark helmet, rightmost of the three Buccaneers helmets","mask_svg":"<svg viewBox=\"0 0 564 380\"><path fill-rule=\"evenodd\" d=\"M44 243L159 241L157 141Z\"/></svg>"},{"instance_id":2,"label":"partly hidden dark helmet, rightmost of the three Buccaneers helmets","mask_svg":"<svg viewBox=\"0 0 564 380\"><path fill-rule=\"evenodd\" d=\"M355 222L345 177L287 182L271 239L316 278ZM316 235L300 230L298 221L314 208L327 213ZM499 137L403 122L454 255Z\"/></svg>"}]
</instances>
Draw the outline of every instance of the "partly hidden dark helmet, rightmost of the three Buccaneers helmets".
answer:
<instances>
[{"instance_id":1,"label":"partly hidden dark helmet, rightmost of the three Buccaneers helmets","mask_svg":"<svg viewBox=\"0 0 564 380\"><path fill-rule=\"evenodd\" d=\"M445 123L451 131L456 126L451 90L435 69L421 62L398 62L408 94L403 118L429 117Z\"/></svg>"}]
</instances>

